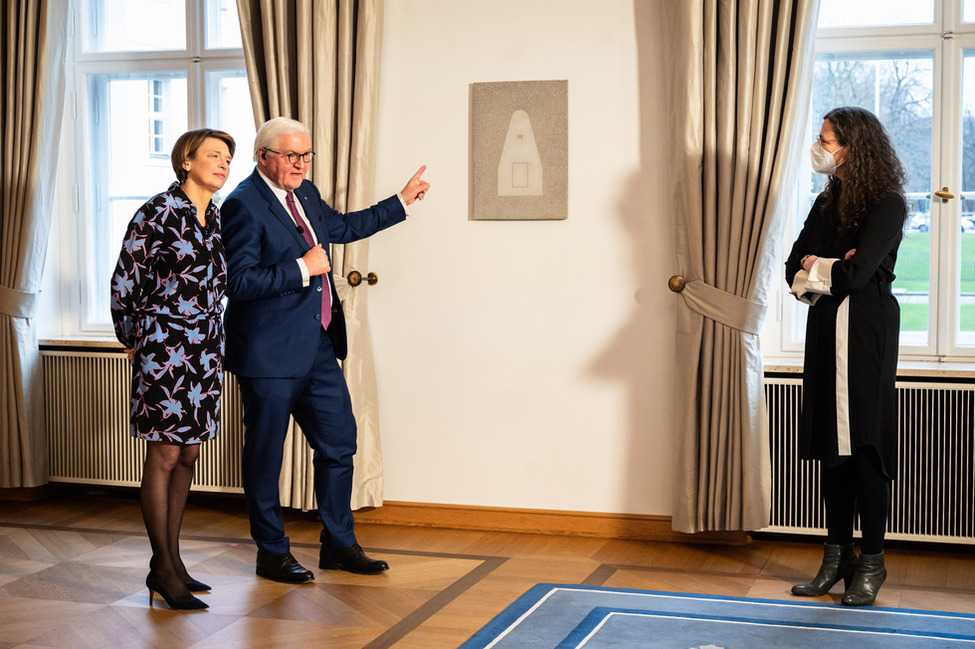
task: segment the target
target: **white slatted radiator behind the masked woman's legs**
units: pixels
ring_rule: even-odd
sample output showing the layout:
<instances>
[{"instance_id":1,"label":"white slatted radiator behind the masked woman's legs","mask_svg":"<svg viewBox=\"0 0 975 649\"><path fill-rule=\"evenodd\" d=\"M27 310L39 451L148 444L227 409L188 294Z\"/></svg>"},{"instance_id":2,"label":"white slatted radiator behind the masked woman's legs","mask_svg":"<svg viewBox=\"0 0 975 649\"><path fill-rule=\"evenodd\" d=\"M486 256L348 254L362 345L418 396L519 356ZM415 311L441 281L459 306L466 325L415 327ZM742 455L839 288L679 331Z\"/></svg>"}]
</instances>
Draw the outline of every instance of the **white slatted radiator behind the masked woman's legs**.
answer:
<instances>
[{"instance_id":1,"label":"white slatted radiator behind the masked woman's legs","mask_svg":"<svg viewBox=\"0 0 975 649\"><path fill-rule=\"evenodd\" d=\"M771 525L825 535L819 466L798 458L801 380L766 377L772 458ZM975 543L975 386L898 381L899 466L888 538Z\"/></svg>"}]
</instances>

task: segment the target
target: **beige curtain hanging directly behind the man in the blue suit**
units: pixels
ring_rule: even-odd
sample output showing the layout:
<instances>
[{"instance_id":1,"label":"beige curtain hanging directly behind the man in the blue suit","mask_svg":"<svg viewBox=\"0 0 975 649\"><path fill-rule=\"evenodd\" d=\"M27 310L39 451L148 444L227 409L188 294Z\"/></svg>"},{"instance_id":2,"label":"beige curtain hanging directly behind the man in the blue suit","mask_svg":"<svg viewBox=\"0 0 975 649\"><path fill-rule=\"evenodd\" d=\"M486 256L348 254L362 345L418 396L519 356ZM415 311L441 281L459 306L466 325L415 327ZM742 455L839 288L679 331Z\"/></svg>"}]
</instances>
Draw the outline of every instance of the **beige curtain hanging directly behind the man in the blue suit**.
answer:
<instances>
[{"instance_id":1,"label":"beige curtain hanging directly behind the man in the blue suit","mask_svg":"<svg viewBox=\"0 0 975 649\"><path fill-rule=\"evenodd\" d=\"M376 100L383 0L237 0L254 117L297 119L311 129L317 155L311 180L335 209L375 202ZM368 242L332 248L333 274L349 330L342 369L359 425L352 508L383 501L382 447L367 284L350 287L352 270L368 269ZM281 473L281 504L314 508L312 452L292 425Z\"/></svg>"}]
</instances>

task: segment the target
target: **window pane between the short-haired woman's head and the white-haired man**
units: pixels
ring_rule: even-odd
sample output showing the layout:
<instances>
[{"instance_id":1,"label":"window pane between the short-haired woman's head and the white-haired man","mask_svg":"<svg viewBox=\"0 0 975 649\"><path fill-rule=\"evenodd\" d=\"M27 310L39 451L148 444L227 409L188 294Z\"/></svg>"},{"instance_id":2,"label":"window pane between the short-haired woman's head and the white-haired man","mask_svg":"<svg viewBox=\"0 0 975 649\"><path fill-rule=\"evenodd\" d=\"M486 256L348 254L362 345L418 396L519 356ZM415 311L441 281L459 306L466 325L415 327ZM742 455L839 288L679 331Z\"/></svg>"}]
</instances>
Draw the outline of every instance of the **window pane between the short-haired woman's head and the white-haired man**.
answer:
<instances>
[{"instance_id":1,"label":"window pane between the short-haired woman's head and the white-haired man","mask_svg":"<svg viewBox=\"0 0 975 649\"><path fill-rule=\"evenodd\" d=\"M243 70L220 70L207 75L207 124L230 133L237 149L230 177L214 200L223 202L241 180L254 170L254 111L251 109L247 75Z\"/></svg>"}]
</instances>

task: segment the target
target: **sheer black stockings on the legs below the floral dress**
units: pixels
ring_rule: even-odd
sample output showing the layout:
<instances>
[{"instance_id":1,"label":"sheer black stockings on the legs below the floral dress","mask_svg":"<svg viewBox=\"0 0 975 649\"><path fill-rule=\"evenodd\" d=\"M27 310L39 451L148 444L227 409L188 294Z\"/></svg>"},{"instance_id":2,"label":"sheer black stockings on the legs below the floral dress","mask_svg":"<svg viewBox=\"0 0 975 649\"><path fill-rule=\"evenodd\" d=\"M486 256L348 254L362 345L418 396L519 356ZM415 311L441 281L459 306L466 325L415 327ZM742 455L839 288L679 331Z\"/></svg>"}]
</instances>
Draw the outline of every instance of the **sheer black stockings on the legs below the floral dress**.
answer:
<instances>
[{"instance_id":1,"label":"sheer black stockings on the legs below the floral dress","mask_svg":"<svg viewBox=\"0 0 975 649\"><path fill-rule=\"evenodd\" d=\"M186 583L190 576L179 556L179 530L199 455L199 444L149 442L142 471L142 520L152 547L149 568L177 599L189 595Z\"/></svg>"}]
</instances>

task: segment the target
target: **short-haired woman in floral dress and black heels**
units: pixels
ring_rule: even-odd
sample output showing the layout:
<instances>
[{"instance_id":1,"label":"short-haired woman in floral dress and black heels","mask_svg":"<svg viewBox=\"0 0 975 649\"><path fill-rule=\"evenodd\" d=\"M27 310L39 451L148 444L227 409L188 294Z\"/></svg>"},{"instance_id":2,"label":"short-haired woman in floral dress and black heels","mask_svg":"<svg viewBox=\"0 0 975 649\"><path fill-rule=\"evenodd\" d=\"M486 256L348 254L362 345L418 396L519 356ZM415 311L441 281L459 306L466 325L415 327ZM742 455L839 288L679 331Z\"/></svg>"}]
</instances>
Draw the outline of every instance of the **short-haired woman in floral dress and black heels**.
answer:
<instances>
[{"instance_id":1,"label":"short-haired woman in floral dress and black heels","mask_svg":"<svg viewBox=\"0 0 975 649\"><path fill-rule=\"evenodd\" d=\"M149 603L204 609L209 590L190 577L179 530L200 444L220 432L226 263L211 198L230 172L234 140L184 133L171 155L177 181L139 208L112 276L115 334L133 363L131 434L148 442L141 502L152 559Z\"/></svg>"}]
</instances>

